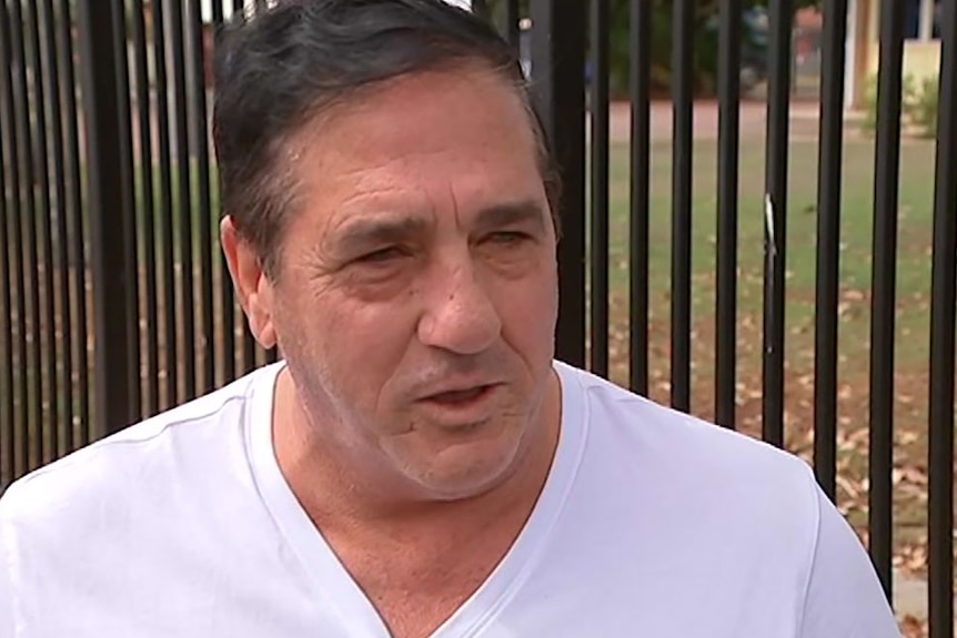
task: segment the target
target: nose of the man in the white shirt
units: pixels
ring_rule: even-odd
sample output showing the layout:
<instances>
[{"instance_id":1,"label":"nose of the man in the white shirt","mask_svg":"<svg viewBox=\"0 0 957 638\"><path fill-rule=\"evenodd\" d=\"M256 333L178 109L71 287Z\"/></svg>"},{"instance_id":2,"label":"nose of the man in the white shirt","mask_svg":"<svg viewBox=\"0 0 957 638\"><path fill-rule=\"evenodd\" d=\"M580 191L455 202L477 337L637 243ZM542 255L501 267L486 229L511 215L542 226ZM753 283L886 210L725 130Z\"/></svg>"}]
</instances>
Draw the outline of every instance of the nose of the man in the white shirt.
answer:
<instances>
[{"instance_id":1,"label":"nose of the man in the white shirt","mask_svg":"<svg viewBox=\"0 0 957 638\"><path fill-rule=\"evenodd\" d=\"M484 352L502 332L502 321L488 292L470 265L436 271L419 322L419 340L461 355Z\"/></svg>"}]
</instances>

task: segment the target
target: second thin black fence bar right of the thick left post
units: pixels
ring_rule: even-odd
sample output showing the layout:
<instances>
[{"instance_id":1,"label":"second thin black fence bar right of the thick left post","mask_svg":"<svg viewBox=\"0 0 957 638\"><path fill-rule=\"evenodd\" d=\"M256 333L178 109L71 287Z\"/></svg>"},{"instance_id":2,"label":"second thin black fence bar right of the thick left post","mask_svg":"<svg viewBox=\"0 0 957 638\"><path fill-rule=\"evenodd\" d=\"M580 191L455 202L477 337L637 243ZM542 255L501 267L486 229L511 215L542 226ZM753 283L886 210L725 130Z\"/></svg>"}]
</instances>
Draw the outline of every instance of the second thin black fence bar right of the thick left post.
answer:
<instances>
[{"instance_id":1,"label":"second thin black fence bar right of the thick left post","mask_svg":"<svg viewBox=\"0 0 957 638\"><path fill-rule=\"evenodd\" d=\"M153 59L155 84L159 89L157 95L157 149L159 158L157 161L159 182L159 205L157 212L160 216L159 239L162 246L163 261L163 344L164 353L162 373L165 374L165 402L162 408L168 408L179 402L179 357L177 356L177 264L173 247L173 183L171 176L171 150L170 150L170 107L169 87L167 77L167 39L165 39L165 13L163 2L152 2L153 8ZM158 300L159 303L159 300Z\"/></svg>"}]
</instances>

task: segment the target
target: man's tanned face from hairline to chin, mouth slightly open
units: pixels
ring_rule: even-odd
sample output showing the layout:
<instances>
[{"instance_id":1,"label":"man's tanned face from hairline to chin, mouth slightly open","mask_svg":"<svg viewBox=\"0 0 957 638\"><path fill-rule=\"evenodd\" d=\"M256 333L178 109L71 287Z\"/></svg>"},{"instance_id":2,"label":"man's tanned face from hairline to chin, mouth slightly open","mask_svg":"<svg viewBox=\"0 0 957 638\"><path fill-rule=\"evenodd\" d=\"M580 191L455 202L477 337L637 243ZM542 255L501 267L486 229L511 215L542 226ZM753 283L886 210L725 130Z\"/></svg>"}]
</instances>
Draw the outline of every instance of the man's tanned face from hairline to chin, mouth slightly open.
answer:
<instances>
[{"instance_id":1,"label":"man's tanned face from hairline to chin, mouth slightly open","mask_svg":"<svg viewBox=\"0 0 957 638\"><path fill-rule=\"evenodd\" d=\"M557 274L535 149L518 97L477 70L394 81L291 141L270 321L339 458L461 498L543 427Z\"/></svg>"}]
</instances>

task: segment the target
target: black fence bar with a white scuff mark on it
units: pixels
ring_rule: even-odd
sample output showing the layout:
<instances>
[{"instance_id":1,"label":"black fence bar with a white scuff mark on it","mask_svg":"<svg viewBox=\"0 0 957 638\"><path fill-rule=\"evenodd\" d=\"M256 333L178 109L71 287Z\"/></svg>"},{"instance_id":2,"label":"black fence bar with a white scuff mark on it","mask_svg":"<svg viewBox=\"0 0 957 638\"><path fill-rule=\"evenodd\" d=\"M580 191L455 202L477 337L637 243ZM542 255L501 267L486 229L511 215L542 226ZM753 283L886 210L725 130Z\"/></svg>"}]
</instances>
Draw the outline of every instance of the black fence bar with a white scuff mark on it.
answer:
<instances>
[{"instance_id":1,"label":"black fence bar with a white scuff mark on it","mask_svg":"<svg viewBox=\"0 0 957 638\"><path fill-rule=\"evenodd\" d=\"M762 436L784 445L784 285L787 246L787 146L790 99L792 0L770 0L765 189L767 239L764 273L764 369Z\"/></svg>"}]
</instances>

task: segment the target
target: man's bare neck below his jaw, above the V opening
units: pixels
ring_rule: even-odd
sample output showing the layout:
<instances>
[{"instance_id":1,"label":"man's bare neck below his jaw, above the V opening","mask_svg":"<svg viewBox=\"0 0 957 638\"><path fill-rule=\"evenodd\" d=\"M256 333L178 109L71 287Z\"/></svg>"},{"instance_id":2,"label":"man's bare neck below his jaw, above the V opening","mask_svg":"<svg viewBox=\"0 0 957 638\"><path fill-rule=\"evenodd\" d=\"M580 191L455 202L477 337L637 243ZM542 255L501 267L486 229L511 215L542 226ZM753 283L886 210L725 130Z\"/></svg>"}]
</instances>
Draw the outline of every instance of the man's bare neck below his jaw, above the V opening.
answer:
<instances>
[{"instance_id":1,"label":"man's bare neck below his jaw, above the V opening","mask_svg":"<svg viewBox=\"0 0 957 638\"><path fill-rule=\"evenodd\" d=\"M347 450L330 445L309 425L294 383L283 369L276 383L273 444L280 469L303 508L325 533L387 530L391 536L443 538L475 534L503 518L524 518L534 508L552 466L561 429L561 388L548 383L535 426L512 464L513 472L494 487L469 498L429 498L374 464L352 462ZM404 485L405 484L405 485ZM404 485L404 487L403 487Z\"/></svg>"}]
</instances>

